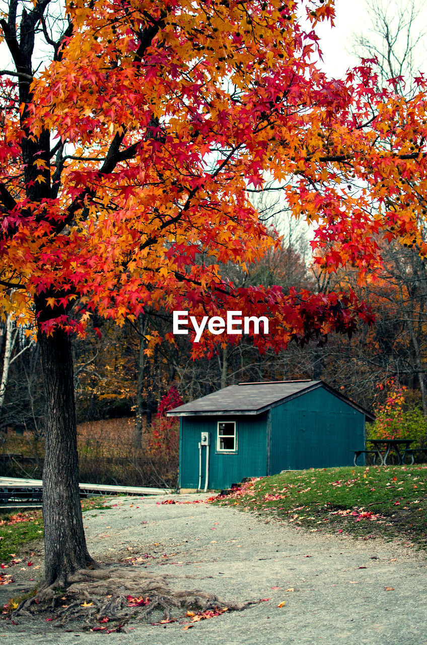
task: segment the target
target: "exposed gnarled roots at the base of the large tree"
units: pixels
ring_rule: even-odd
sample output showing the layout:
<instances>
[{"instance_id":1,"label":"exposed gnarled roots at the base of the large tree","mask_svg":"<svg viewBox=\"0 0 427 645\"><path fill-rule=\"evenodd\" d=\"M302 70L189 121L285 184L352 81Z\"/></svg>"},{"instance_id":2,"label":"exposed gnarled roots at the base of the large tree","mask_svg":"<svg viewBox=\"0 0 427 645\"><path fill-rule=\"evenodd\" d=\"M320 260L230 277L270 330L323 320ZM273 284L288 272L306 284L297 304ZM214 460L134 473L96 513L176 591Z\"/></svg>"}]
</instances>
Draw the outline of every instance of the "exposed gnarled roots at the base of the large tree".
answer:
<instances>
[{"instance_id":1,"label":"exposed gnarled roots at the base of the large tree","mask_svg":"<svg viewBox=\"0 0 427 645\"><path fill-rule=\"evenodd\" d=\"M192 578L193 576L183 576ZM252 601L225 602L213 593L201 590L177 591L169 582L181 576L154 575L137 566L76 571L68 579L68 588L43 588L24 600L13 617L33 616L45 611L52 624L63 627L83 620L83 629L126 631L130 619L153 622L171 621L183 616L183 610L204 612L246 609ZM255 601L256 602L256 601Z\"/></svg>"}]
</instances>

